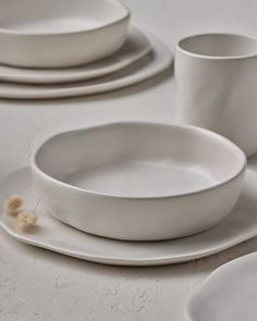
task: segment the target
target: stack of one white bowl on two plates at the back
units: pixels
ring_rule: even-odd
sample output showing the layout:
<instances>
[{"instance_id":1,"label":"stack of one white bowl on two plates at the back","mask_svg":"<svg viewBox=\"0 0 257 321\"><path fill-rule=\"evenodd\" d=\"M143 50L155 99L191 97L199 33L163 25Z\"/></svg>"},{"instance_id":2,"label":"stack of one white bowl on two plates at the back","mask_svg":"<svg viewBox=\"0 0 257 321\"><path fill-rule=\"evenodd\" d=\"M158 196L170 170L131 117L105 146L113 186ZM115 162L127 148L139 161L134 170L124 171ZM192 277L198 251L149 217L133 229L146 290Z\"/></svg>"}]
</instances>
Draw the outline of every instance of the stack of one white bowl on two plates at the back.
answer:
<instances>
[{"instance_id":1,"label":"stack of one white bowl on two plates at the back","mask_svg":"<svg viewBox=\"0 0 257 321\"><path fill-rule=\"evenodd\" d=\"M119 1L74 1L4 0L0 97L103 92L142 82L171 64L169 49L131 27L130 11Z\"/></svg>"}]
</instances>

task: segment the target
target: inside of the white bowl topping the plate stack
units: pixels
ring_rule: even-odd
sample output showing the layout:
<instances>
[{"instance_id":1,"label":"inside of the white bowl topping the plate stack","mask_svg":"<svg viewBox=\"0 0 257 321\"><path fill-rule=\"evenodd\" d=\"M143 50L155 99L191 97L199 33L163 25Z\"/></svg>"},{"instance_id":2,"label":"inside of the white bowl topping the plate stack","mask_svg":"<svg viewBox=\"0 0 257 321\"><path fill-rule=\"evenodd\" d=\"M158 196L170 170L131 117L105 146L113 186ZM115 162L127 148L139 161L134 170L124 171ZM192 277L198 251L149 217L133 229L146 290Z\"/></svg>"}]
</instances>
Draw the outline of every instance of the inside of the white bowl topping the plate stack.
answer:
<instances>
[{"instance_id":1,"label":"inside of the white bowl topping the plate stack","mask_svg":"<svg viewBox=\"0 0 257 321\"><path fill-rule=\"evenodd\" d=\"M3 0L0 29L11 33L90 30L127 16L117 0Z\"/></svg>"}]
</instances>

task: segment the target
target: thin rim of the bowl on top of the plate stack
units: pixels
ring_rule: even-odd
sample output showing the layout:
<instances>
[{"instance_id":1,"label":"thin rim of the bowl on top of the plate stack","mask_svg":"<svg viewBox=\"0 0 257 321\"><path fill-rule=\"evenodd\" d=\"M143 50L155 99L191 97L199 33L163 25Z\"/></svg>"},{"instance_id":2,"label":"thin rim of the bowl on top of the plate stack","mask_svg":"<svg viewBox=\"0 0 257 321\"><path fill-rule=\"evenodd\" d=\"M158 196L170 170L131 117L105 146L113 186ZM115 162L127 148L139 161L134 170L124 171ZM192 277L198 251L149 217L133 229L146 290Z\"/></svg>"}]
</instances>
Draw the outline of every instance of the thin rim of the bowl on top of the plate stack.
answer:
<instances>
[{"instance_id":1,"label":"thin rim of the bowl on top of the plate stack","mask_svg":"<svg viewBox=\"0 0 257 321\"><path fill-rule=\"evenodd\" d=\"M91 0L94 1L94 0ZM105 25L101 25L99 27L94 27L91 29L77 29L77 30L65 30L65 32L23 32L23 30L19 30L19 29L10 29L10 28L3 28L0 27L0 35L4 35L4 36L24 36L24 37L29 37L29 36L37 36L37 37L44 37L44 36L63 36L63 35L79 35L79 34L89 34L89 33L94 33L94 32L98 32L105 28L108 28L110 26L117 25L122 23L123 21L130 20L131 17L131 11L130 9L120 0L105 0L106 2L109 3L114 3L117 5L120 5L120 8L122 8L124 10L124 14L122 14L122 16L115 21L112 21L110 23L106 23Z\"/></svg>"}]
</instances>

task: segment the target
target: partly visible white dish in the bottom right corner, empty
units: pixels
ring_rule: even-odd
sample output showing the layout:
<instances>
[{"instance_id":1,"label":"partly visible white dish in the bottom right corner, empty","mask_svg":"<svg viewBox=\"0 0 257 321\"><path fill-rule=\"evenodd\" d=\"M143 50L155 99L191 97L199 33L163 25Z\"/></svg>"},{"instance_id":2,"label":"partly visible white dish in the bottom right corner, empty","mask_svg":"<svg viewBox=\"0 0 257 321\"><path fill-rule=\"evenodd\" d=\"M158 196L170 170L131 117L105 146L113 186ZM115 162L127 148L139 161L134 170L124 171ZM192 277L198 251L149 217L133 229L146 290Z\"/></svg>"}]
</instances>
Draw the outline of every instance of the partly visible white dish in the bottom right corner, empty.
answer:
<instances>
[{"instance_id":1,"label":"partly visible white dish in the bottom right corner, empty","mask_svg":"<svg viewBox=\"0 0 257 321\"><path fill-rule=\"evenodd\" d=\"M192 297L192 321L256 321L257 252L217 269Z\"/></svg>"}]
</instances>

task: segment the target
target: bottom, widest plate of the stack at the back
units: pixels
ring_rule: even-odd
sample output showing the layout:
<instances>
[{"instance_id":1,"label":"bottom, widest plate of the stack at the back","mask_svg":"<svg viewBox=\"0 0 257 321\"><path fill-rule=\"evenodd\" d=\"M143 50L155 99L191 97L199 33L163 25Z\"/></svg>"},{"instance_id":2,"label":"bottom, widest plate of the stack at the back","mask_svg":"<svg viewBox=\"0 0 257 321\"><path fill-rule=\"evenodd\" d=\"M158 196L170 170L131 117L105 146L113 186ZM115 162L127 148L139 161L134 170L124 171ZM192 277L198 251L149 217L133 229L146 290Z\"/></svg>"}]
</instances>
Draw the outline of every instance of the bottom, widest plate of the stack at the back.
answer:
<instances>
[{"instance_id":1,"label":"bottom, widest plate of the stack at the back","mask_svg":"<svg viewBox=\"0 0 257 321\"><path fill-rule=\"evenodd\" d=\"M131 86L167 70L173 55L164 44L148 36L152 52L138 63L100 79L63 85L0 84L0 97L12 99L48 99L106 92Z\"/></svg>"}]
</instances>

